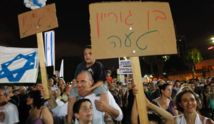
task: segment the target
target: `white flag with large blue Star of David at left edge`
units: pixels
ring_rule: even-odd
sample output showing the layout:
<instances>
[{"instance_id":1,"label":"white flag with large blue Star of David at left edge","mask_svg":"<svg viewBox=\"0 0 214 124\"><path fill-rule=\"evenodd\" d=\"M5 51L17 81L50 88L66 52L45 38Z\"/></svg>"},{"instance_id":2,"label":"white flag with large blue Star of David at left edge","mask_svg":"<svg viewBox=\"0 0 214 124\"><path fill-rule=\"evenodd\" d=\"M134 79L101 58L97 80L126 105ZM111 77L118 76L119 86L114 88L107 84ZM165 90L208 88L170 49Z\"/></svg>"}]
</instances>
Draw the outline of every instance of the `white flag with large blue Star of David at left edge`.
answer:
<instances>
[{"instance_id":1,"label":"white flag with large blue Star of David at left edge","mask_svg":"<svg viewBox=\"0 0 214 124\"><path fill-rule=\"evenodd\" d=\"M35 83L37 49L0 46L0 83Z\"/></svg>"}]
</instances>

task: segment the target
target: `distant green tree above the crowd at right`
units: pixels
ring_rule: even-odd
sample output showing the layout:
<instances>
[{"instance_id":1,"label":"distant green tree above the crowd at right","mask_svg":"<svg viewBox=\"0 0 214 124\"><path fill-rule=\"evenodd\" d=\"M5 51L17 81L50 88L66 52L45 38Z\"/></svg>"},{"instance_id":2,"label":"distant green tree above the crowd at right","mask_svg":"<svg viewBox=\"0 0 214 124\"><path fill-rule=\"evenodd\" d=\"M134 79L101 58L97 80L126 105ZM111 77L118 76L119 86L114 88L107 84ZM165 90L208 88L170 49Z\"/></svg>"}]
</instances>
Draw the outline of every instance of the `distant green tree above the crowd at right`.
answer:
<instances>
[{"instance_id":1,"label":"distant green tree above the crowd at right","mask_svg":"<svg viewBox=\"0 0 214 124\"><path fill-rule=\"evenodd\" d=\"M192 68L193 78L195 77L195 65L196 63L202 61L202 55L199 49L193 48L190 49L187 53L187 61L190 63L190 66Z\"/></svg>"}]
</instances>

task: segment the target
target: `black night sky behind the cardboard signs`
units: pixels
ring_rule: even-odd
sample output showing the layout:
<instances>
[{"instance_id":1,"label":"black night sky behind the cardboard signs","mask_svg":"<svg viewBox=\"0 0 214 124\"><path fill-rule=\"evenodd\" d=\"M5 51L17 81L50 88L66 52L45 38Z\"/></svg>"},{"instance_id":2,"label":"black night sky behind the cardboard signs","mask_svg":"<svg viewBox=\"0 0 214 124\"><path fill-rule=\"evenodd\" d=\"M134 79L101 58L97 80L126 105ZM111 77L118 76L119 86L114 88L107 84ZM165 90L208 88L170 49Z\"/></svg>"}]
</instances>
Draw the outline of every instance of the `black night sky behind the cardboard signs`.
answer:
<instances>
[{"instance_id":1,"label":"black night sky behind the cardboard signs","mask_svg":"<svg viewBox=\"0 0 214 124\"><path fill-rule=\"evenodd\" d=\"M47 1L47 4L56 3L59 22L59 27L54 29L57 57L79 56L80 49L90 44L88 4L94 2L101 0L72 0L72 3L69 0ZM169 0L169 3L177 36L185 36L188 47L197 47L206 54L209 38L214 36L214 1ZM1 45L36 47L35 36L19 38L17 15L26 11L30 9L24 6L23 0L1 1Z\"/></svg>"}]
</instances>

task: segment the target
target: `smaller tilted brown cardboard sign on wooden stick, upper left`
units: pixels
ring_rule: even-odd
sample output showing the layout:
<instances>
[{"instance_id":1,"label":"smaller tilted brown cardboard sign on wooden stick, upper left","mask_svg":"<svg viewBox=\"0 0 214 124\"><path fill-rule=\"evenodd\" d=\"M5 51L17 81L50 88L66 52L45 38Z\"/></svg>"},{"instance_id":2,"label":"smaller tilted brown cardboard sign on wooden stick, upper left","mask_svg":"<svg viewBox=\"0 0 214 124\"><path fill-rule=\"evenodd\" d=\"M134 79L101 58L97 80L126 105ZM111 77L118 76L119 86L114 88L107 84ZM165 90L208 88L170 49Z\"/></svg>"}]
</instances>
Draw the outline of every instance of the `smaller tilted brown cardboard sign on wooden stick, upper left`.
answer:
<instances>
[{"instance_id":1,"label":"smaller tilted brown cardboard sign on wooden stick, upper left","mask_svg":"<svg viewBox=\"0 0 214 124\"><path fill-rule=\"evenodd\" d=\"M21 38L58 27L55 4L22 13L18 20Z\"/></svg>"}]
</instances>

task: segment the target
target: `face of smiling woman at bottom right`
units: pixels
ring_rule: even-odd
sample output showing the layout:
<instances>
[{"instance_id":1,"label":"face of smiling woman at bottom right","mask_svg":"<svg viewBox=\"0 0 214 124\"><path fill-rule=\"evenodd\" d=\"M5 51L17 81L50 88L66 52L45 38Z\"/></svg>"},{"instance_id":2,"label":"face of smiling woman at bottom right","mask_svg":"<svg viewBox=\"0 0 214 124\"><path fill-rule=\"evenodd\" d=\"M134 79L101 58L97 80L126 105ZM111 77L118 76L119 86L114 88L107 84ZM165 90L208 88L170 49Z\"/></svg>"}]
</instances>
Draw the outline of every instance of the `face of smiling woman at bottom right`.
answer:
<instances>
[{"instance_id":1,"label":"face of smiling woman at bottom right","mask_svg":"<svg viewBox=\"0 0 214 124\"><path fill-rule=\"evenodd\" d=\"M195 96L190 92L184 93L181 96L180 106L183 108L184 112L188 113L196 112L197 101Z\"/></svg>"}]
</instances>

